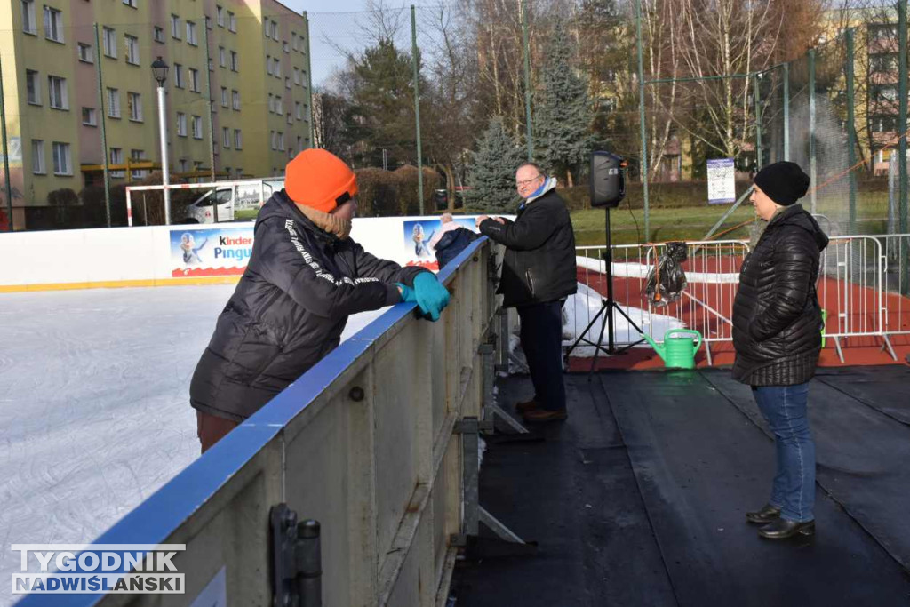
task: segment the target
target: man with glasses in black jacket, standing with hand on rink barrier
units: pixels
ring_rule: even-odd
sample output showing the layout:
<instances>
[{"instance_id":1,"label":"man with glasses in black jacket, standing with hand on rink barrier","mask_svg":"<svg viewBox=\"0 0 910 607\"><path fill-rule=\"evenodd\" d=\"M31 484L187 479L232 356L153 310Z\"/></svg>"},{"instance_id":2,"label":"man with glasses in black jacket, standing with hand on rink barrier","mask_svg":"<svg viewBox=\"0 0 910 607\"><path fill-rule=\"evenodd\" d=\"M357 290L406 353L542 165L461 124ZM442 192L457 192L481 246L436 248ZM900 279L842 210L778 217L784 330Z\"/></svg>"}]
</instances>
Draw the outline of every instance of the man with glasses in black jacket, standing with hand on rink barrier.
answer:
<instances>
[{"instance_id":1,"label":"man with glasses in black jacket, standing with hand on rink barrier","mask_svg":"<svg viewBox=\"0 0 910 607\"><path fill-rule=\"evenodd\" d=\"M578 289L575 235L555 177L528 162L515 174L524 202L514 222L477 218L480 233L506 246L498 292L518 310L521 349L528 359L534 398L516 409L525 421L566 419L562 382L562 305Z\"/></svg>"}]
</instances>

